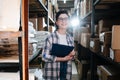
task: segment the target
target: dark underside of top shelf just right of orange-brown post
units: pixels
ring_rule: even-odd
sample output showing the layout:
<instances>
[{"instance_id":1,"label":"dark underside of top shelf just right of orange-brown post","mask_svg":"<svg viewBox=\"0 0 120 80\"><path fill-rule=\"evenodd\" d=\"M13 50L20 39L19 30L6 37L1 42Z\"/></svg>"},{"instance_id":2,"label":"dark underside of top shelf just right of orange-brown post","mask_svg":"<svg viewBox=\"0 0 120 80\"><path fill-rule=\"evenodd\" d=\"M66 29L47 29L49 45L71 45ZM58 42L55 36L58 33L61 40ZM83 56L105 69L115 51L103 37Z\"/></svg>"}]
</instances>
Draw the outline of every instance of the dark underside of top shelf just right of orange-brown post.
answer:
<instances>
[{"instance_id":1,"label":"dark underside of top shelf just right of orange-brown post","mask_svg":"<svg viewBox=\"0 0 120 80\"><path fill-rule=\"evenodd\" d=\"M29 0L29 17L47 16L48 9L40 0Z\"/></svg>"}]
</instances>

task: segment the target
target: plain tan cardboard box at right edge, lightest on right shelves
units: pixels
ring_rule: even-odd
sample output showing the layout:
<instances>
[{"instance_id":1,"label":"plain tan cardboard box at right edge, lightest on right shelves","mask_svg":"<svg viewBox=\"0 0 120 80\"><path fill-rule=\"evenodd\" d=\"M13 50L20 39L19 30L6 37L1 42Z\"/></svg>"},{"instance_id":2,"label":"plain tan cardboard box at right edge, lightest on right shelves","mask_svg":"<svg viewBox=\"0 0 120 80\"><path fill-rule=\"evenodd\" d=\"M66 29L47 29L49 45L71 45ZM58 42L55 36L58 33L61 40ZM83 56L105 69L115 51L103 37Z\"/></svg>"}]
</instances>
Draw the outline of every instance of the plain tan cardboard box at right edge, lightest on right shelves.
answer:
<instances>
[{"instance_id":1,"label":"plain tan cardboard box at right edge, lightest on right shelves","mask_svg":"<svg viewBox=\"0 0 120 80\"><path fill-rule=\"evenodd\" d=\"M120 49L120 25L114 25L112 28L112 49Z\"/></svg>"}]
</instances>

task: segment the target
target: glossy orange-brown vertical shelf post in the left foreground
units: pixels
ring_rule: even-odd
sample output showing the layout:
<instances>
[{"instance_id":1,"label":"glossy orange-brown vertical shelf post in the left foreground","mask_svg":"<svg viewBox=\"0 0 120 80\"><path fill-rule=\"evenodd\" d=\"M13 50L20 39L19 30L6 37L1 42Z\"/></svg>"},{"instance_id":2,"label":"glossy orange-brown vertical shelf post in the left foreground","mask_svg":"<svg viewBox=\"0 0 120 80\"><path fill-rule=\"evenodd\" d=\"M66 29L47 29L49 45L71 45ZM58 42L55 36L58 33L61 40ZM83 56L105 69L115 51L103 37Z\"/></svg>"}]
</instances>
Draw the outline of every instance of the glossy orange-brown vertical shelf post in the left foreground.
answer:
<instances>
[{"instance_id":1,"label":"glossy orange-brown vertical shelf post in the left foreground","mask_svg":"<svg viewBox=\"0 0 120 80\"><path fill-rule=\"evenodd\" d=\"M28 75L28 0L22 0L22 80L29 80Z\"/></svg>"}]
</instances>

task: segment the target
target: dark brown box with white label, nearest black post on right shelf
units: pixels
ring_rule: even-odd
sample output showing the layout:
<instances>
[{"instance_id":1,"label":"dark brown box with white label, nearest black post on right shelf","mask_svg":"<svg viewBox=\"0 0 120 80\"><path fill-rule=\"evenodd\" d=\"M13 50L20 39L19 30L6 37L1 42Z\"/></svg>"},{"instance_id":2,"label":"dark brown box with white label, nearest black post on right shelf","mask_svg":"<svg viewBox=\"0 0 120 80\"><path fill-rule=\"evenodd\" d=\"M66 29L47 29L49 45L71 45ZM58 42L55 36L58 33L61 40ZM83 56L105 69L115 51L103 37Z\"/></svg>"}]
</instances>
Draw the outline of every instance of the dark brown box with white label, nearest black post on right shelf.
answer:
<instances>
[{"instance_id":1,"label":"dark brown box with white label, nearest black post on right shelf","mask_svg":"<svg viewBox=\"0 0 120 80\"><path fill-rule=\"evenodd\" d=\"M100 40L99 38L90 38L90 50L97 53L100 52Z\"/></svg>"}]
</instances>

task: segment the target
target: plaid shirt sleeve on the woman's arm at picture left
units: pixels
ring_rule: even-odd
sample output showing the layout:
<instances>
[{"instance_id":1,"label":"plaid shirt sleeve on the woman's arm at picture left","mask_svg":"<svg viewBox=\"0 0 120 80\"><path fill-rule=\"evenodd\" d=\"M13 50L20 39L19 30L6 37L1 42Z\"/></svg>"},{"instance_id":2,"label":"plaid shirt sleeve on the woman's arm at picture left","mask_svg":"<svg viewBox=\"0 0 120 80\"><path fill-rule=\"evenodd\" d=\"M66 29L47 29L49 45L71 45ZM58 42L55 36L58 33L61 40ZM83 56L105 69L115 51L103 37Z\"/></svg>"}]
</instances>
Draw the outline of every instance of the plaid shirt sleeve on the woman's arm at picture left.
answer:
<instances>
[{"instance_id":1,"label":"plaid shirt sleeve on the woman's arm at picture left","mask_svg":"<svg viewBox=\"0 0 120 80\"><path fill-rule=\"evenodd\" d=\"M50 55L50 49L52 46L51 37L47 38L44 43L43 51L42 51L42 60L45 62L54 62L56 56Z\"/></svg>"}]
</instances>

